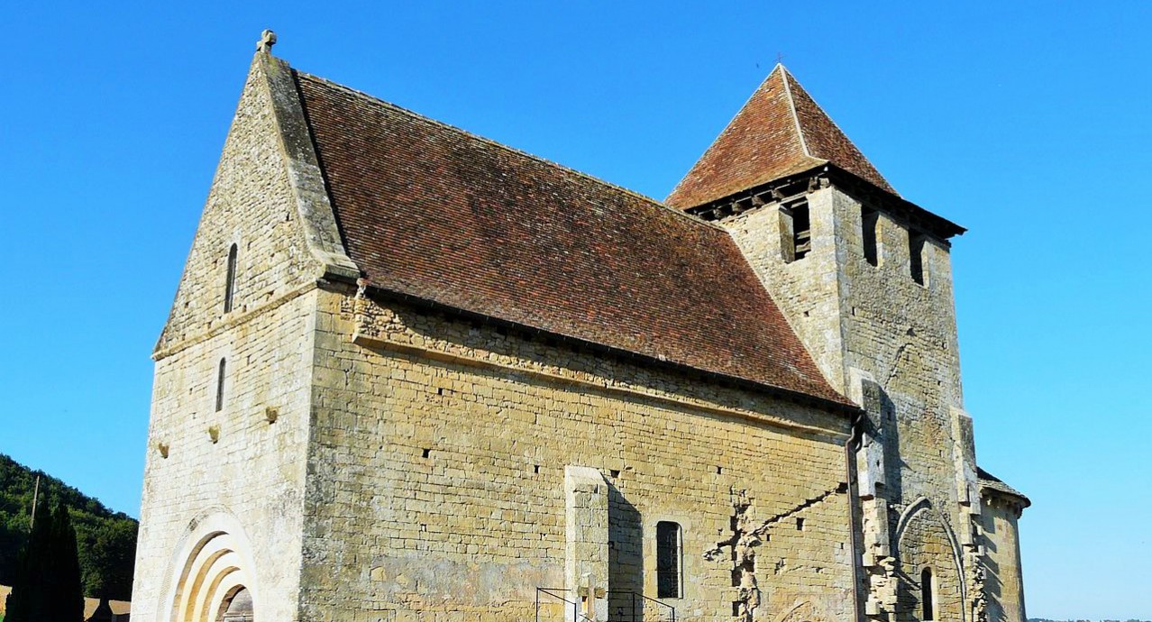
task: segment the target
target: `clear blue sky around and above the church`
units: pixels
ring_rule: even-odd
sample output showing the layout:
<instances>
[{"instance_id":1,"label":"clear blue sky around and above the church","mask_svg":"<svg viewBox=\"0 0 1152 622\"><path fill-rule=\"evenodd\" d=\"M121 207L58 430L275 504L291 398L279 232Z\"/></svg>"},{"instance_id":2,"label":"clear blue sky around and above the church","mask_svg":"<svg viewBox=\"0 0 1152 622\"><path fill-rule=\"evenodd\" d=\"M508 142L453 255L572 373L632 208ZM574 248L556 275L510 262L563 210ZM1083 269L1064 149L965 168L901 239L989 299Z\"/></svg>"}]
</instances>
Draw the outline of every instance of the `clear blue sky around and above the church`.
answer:
<instances>
[{"instance_id":1,"label":"clear blue sky around and above the church","mask_svg":"<svg viewBox=\"0 0 1152 622\"><path fill-rule=\"evenodd\" d=\"M1036 503L1029 613L1152 619L1152 3L567 5L5 2L0 452L138 511L149 355L262 29L303 70L657 198L782 53L970 229L967 408Z\"/></svg>"}]
</instances>

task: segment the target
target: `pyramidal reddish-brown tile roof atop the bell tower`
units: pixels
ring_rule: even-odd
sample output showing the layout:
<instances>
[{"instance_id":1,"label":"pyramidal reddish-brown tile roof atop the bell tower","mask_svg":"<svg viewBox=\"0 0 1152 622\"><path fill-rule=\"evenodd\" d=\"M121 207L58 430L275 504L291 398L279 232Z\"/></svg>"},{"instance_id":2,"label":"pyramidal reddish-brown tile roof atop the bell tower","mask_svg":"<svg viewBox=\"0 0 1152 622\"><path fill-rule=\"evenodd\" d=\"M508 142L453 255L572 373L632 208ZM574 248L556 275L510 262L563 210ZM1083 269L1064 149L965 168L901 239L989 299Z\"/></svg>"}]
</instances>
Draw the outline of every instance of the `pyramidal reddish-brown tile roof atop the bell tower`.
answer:
<instances>
[{"instance_id":1,"label":"pyramidal reddish-brown tile roof atop the bell tower","mask_svg":"<svg viewBox=\"0 0 1152 622\"><path fill-rule=\"evenodd\" d=\"M788 69L776 65L665 203L687 210L827 164L899 196Z\"/></svg>"}]
</instances>

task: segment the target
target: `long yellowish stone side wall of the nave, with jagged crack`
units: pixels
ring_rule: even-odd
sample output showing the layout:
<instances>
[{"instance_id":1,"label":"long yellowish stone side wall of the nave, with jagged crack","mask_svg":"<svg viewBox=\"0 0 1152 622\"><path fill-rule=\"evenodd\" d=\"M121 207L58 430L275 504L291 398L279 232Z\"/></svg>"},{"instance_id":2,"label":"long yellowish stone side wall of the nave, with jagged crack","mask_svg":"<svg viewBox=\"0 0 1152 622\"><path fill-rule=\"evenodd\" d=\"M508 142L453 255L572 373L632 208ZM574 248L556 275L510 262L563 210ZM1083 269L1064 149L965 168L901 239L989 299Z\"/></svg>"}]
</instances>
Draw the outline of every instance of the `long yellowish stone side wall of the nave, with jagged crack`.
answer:
<instances>
[{"instance_id":1,"label":"long yellowish stone side wall of the nave, with jagged crack","mask_svg":"<svg viewBox=\"0 0 1152 622\"><path fill-rule=\"evenodd\" d=\"M609 590L655 597L672 521L677 619L848 616L843 416L350 293L318 318L302 617L531 617L567 465L607 484Z\"/></svg>"}]
</instances>

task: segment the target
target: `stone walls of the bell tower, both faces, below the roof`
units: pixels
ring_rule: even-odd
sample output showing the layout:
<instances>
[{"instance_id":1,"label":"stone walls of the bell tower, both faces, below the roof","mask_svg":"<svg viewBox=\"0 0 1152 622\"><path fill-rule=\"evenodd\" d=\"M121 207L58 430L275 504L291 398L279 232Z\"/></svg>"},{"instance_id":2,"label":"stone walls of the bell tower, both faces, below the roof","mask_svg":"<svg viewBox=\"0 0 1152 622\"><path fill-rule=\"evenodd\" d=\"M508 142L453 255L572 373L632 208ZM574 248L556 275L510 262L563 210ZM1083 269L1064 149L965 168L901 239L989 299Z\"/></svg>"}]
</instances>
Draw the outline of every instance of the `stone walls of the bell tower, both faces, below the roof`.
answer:
<instances>
[{"instance_id":1,"label":"stone walls of the bell tower, both faces, below the roof","mask_svg":"<svg viewBox=\"0 0 1152 622\"><path fill-rule=\"evenodd\" d=\"M975 449L971 422L962 410L949 249L925 241L925 279L918 283L909 267L907 223L878 214L878 260L872 265L864 252L862 204L827 184L805 198L811 251L802 259L783 258L778 204L721 225L829 381L869 411L859 465L867 488L861 491L862 553L865 566L874 564L869 613L885 619L915 609L909 596L919 572L915 566L958 566L961 570L940 570L941 593L963 616L958 620L971 619L977 590L968 562L973 547L964 538L979 505L970 494ZM865 400L865 394L872 397ZM901 529L909 523L901 519L922 503L932 508L940 529L904 538Z\"/></svg>"}]
</instances>

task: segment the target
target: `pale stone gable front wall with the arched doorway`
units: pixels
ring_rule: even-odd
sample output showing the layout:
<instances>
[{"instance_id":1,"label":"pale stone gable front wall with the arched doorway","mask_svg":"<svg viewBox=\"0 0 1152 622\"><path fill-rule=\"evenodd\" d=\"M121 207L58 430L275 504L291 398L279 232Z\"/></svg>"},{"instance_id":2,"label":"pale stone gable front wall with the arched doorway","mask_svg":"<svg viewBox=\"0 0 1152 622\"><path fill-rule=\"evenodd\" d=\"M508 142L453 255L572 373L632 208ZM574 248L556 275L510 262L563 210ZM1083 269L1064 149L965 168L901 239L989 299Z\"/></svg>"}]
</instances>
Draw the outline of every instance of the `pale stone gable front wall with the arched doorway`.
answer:
<instances>
[{"instance_id":1,"label":"pale stone gable front wall with the arched doorway","mask_svg":"<svg viewBox=\"0 0 1152 622\"><path fill-rule=\"evenodd\" d=\"M172 619L177 593L211 609L233 584L249 587L260 619L297 619L320 268L298 222L264 61L244 84L157 344L132 598L139 621ZM226 314L232 244L235 303Z\"/></svg>"}]
</instances>

